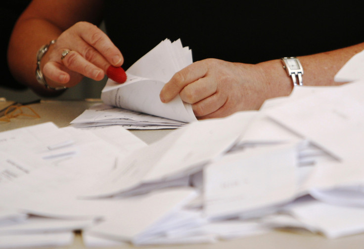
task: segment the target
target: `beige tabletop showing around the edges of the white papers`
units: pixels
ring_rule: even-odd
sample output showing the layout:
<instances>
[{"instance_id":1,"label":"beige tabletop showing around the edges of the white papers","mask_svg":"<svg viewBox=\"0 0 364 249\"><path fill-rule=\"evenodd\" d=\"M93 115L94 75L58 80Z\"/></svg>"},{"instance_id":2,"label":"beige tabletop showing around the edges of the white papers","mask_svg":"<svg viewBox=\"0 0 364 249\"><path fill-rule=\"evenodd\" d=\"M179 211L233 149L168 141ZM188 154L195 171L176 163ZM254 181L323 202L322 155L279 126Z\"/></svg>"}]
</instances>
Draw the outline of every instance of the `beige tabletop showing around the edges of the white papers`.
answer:
<instances>
[{"instance_id":1,"label":"beige tabletop showing around the edges of the white papers","mask_svg":"<svg viewBox=\"0 0 364 249\"><path fill-rule=\"evenodd\" d=\"M45 100L40 103L28 105L41 118L30 118L19 116L11 119L10 122L0 122L0 131L20 128L24 126L53 122L58 127L64 127L78 117L83 111L99 100L92 101L54 101ZM0 110L11 104L11 102L2 101ZM171 130L131 130L137 137L150 144L165 136ZM76 233L74 243L66 247L67 249L85 248L82 235ZM137 248L134 246L110 247L117 248ZM327 239L320 234L312 234L305 230L275 230L266 234L249 236L229 241L221 241L214 244L198 245L179 245L179 246L143 246L143 249L163 248L163 249L363 249L364 234L346 236L338 239Z\"/></svg>"}]
</instances>

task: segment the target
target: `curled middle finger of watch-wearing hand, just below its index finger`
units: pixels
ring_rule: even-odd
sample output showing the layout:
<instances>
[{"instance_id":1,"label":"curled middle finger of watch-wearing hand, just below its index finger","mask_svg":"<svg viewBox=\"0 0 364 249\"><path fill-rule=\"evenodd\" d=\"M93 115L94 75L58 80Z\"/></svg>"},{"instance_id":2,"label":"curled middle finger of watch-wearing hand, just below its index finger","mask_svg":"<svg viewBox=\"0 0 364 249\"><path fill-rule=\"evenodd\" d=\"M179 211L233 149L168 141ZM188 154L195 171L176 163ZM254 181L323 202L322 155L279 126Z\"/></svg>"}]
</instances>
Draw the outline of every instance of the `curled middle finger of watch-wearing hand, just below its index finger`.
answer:
<instances>
[{"instance_id":1,"label":"curled middle finger of watch-wearing hand, just below its index finger","mask_svg":"<svg viewBox=\"0 0 364 249\"><path fill-rule=\"evenodd\" d=\"M194 104L203 100L217 91L216 81L208 77L201 78L193 83L186 85L180 92L181 99L184 102Z\"/></svg>"}]
</instances>

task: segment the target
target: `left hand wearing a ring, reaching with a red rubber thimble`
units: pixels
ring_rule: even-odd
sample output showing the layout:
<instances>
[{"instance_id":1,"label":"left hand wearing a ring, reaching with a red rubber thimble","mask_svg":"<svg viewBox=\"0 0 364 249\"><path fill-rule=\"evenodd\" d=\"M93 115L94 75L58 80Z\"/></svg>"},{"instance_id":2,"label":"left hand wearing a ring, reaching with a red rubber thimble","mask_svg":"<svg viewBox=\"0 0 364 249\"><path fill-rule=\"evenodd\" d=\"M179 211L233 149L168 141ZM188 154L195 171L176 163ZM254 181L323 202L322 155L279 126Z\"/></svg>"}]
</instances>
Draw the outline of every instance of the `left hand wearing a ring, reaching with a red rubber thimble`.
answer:
<instances>
[{"instance_id":1,"label":"left hand wearing a ring, reaching with a red rubber thimble","mask_svg":"<svg viewBox=\"0 0 364 249\"><path fill-rule=\"evenodd\" d=\"M61 59L67 50L69 53ZM46 56L42 72L51 86L74 86L84 76L100 81L110 65L120 67L124 62L107 35L88 22L78 22L65 30Z\"/></svg>"}]
</instances>

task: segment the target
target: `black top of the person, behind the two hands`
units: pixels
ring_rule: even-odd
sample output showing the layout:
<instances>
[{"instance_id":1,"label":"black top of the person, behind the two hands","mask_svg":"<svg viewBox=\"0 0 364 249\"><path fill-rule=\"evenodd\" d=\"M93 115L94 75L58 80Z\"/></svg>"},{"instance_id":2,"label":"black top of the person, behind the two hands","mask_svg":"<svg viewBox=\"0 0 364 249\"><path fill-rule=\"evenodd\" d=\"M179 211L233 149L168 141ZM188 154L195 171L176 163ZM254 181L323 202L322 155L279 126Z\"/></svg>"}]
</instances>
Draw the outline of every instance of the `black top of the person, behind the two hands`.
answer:
<instances>
[{"instance_id":1,"label":"black top of the person, behind the two hands","mask_svg":"<svg viewBox=\"0 0 364 249\"><path fill-rule=\"evenodd\" d=\"M361 3L105 0L105 25L123 53L125 69L166 38L180 38L194 61L256 64L364 42Z\"/></svg>"}]
</instances>

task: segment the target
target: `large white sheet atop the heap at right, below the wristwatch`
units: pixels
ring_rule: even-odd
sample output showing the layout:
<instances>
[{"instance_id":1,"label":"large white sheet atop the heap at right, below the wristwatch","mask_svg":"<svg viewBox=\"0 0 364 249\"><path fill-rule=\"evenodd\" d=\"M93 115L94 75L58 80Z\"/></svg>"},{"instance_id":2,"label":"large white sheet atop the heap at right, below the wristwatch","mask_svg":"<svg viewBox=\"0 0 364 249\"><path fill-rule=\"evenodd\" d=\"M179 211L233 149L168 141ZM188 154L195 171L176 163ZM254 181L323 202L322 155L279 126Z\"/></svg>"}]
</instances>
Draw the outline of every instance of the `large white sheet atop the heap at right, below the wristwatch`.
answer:
<instances>
[{"instance_id":1,"label":"large white sheet atop the heap at right, below the wristwatch","mask_svg":"<svg viewBox=\"0 0 364 249\"><path fill-rule=\"evenodd\" d=\"M305 98L287 99L285 105L266 113L278 124L315 142L338 160L363 161L363 90L362 81L329 87Z\"/></svg>"}]
</instances>

